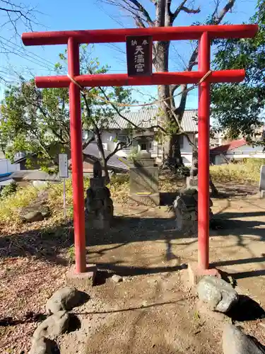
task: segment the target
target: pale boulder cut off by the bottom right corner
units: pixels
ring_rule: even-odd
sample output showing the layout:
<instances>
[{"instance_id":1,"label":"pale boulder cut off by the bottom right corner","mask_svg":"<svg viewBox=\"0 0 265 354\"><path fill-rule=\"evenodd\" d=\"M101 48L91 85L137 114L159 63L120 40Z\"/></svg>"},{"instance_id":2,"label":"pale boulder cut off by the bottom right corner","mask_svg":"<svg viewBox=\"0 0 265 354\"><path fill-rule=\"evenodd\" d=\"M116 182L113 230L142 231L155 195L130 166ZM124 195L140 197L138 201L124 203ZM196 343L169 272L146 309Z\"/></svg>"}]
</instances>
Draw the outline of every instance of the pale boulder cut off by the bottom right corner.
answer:
<instances>
[{"instance_id":1,"label":"pale boulder cut off by the bottom right corner","mask_svg":"<svg viewBox=\"0 0 265 354\"><path fill-rule=\"evenodd\" d=\"M232 324L223 329L223 354L264 354L264 347Z\"/></svg>"}]
</instances>

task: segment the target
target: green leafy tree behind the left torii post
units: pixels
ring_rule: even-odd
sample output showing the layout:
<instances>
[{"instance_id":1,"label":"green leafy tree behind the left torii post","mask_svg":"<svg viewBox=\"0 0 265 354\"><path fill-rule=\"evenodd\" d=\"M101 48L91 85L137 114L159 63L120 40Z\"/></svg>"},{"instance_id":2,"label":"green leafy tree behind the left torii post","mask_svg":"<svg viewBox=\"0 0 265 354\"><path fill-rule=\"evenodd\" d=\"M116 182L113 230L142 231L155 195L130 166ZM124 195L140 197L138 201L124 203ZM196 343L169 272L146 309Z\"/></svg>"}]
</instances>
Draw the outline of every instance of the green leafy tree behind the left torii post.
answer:
<instances>
[{"instance_id":1,"label":"green leafy tree behind the left torii post","mask_svg":"<svg viewBox=\"0 0 265 354\"><path fill-rule=\"evenodd\" d=\"M58 74L64 72L66 53L59 57L60 62L55 66ZM82 74L104 74L109 69L100 66L98 59L91 58L87 45L81 47L80 59ZM114 151L105 156L102 130L108 129L117 114L127 120L123 113L126 112L126 103L131 102L131 90L123 87L96 87L82 93L82 125L83 130L89 133L83 149L93 140L97 142L107 181L107 161L124 144L118 143ZM132 123L127 122L130 130ZM1 144L5 145L9 158L13 159L17 152L30 152L37 155L42 169L54 166L58 154L70 149L69 89L37 89L34 81L21 78L20 85L6 90L0 123Z\"/></svg>"}]
</instances>

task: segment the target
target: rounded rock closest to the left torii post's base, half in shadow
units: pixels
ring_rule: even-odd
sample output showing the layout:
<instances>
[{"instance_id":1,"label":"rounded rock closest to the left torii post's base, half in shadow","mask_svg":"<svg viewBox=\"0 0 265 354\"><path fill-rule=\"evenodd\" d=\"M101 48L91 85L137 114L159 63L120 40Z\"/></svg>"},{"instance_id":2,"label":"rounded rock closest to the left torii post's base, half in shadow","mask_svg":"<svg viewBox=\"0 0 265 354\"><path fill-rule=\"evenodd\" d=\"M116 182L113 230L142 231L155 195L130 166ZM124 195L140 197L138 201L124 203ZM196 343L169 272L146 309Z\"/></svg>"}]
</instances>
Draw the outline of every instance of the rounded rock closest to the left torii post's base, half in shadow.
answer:
<instances>
[{"instance_id":1,"label":"rounded rock closest to the left torii post's base, half in shadow","mask_svg":"<svg viewBox=\"0 0 265 354\"><path fill-rule=\"evenodd\" d=\"M46 311L48 314L56 314L61 310L71 310L81 304L82 295L75 287L62 287L48 299Z\"/></svg>"}]
</instances>

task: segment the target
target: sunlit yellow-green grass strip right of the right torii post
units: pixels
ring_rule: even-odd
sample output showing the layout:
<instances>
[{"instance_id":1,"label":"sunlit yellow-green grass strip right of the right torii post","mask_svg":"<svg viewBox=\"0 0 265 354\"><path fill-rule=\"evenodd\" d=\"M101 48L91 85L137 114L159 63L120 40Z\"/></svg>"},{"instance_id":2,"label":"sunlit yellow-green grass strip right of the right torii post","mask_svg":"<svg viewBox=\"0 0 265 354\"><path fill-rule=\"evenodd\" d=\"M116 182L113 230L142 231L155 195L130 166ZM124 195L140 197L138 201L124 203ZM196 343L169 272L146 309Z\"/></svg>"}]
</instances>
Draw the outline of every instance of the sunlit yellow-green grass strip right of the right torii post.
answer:
<instances>
[{"instance_id":1,"label":"sunlit yellow-green grass strip right of the right torii post","mask_svg":"<svg viewBox=\"0 0 265 354\"><path fill-rule=\"evenodd\" d=\"M264 159L245 159L237 164L211 166L210 173L213 181L256 183L259 181L260 168L263 164Z\"/></svg>"}]
</instances>

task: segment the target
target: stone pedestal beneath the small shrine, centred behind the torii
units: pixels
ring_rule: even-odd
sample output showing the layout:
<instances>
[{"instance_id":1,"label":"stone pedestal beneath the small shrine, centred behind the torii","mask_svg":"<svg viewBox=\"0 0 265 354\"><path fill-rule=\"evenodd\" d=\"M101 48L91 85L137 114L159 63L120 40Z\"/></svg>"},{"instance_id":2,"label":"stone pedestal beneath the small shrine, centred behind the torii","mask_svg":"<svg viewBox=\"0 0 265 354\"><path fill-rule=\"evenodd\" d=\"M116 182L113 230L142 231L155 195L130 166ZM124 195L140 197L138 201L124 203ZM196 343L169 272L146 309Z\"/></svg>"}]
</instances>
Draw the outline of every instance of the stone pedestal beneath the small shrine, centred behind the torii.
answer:
<instances>
[{"instance_id":1,"label":"stone pedestal beneath the small shrine, centred behind the torii","mask_svg":"<svg viewBox=\"0 0 265 354\"><path fill-rule=\"evenodd\" d=\"M141 152L130 169L130 198L142 205L160 204L158 166L149 152Z\"/></svg>"}]
</instances>

